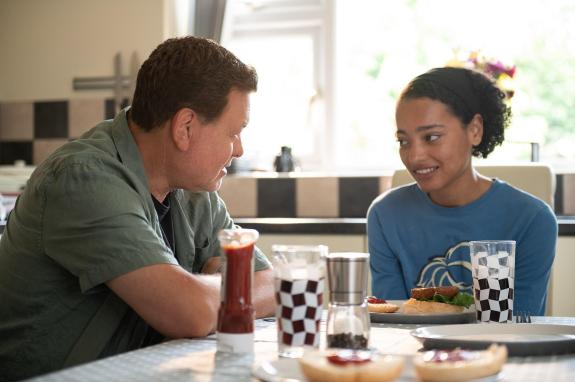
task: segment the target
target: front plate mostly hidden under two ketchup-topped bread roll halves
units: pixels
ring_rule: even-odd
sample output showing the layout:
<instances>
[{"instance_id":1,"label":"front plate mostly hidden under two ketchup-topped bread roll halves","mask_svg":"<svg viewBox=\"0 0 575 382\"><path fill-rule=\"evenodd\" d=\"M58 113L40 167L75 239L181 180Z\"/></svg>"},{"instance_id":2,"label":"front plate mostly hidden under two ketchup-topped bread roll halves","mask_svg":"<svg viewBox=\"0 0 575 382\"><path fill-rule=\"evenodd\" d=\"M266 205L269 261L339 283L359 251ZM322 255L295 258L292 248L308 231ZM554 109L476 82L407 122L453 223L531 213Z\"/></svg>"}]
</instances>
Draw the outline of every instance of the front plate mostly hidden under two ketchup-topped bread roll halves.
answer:
<instances>
[{"instance_id":1,"label":"front plate mostly hidden under two ketchup-topped bread roll halves","mask_svg":"<svg viewBox=\"0 0 575 382\"><path fill-rule=\"evenodd\" d=\"M294 358L279 358L275 361L263 362L257 365L252 375L264 382L305 382L307 381L299 368L298 360ZM502 373L485 378L473 379L468 382L497 382L503 378ZM405 358L403 372L396 381L413 382L416 378L412 357Z\"/></svg>"}]
</instances>

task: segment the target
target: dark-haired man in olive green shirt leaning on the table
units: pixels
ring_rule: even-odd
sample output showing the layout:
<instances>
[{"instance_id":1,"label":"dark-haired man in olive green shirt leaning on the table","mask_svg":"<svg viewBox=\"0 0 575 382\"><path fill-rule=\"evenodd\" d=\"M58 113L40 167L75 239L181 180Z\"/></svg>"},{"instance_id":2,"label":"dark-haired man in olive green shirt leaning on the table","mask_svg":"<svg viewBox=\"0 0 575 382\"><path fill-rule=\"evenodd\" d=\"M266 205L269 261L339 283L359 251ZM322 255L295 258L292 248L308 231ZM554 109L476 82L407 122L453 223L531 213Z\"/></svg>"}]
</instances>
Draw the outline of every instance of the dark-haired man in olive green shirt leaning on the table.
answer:
<instances>
[{"instance_id":1,"label":"dark-haired man in olive green shirt leaning on the table","mask_svg":"<svg viewBox=\"0 0 575 382\"><path fill-rule=\"evenodd\" d=\"M0 379L215 330L221 279L206 274L221 265L218 231L234 227L216 191L256 87L216 43L167 40L131 108L36 169L0 242ZM259 250L255 264L261 317L272 275Z\"/></svg>"}]
</instances>

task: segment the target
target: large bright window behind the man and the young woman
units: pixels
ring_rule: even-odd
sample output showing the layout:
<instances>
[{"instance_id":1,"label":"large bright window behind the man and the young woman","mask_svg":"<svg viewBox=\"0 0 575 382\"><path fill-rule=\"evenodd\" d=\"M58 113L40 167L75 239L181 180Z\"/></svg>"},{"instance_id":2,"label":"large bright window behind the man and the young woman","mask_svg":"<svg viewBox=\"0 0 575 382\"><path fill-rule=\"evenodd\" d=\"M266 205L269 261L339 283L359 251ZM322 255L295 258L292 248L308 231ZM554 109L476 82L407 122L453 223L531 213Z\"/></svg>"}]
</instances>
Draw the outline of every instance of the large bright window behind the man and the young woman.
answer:
<instances>
[{"instance_id":1,"label":"large bright window behind the man and the young woman","mask_svg":"<svg viewBox=\"0 0 575 382\"><path fill-rule=\"evenodd\" d=\"M246 153L271 168L282 145L302 168L401 166L395 102L414 76L480 51L517 66L513 124L487 162L575 165L571 0L235 0L223 43L260 74ZM230 7L232 8L232 7Z\"/></svg>"}]
</instances>

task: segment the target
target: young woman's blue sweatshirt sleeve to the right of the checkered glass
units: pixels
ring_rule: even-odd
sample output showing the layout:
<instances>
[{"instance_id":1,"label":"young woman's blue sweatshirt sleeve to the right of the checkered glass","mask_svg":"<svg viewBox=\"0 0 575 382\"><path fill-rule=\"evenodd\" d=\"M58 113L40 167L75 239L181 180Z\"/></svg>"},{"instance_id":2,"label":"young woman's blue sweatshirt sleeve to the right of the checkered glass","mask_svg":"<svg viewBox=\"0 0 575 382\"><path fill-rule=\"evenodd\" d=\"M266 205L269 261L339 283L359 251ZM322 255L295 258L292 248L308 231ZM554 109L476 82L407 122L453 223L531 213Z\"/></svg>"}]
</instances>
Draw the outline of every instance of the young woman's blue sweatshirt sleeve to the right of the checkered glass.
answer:
<instances>
[{"instance_id":1,"label":"young woman's blue sweatshirt sleeve to the right of the checkered glass","mask_svg":"<svg viewBox=\"0 0 575 382\"><path fill-rule=\"evenodd\" d=\"M557 218L545 205L527 225L515 253L514 310L544 315L557 245Z\"/></svg>"}]
</instances>

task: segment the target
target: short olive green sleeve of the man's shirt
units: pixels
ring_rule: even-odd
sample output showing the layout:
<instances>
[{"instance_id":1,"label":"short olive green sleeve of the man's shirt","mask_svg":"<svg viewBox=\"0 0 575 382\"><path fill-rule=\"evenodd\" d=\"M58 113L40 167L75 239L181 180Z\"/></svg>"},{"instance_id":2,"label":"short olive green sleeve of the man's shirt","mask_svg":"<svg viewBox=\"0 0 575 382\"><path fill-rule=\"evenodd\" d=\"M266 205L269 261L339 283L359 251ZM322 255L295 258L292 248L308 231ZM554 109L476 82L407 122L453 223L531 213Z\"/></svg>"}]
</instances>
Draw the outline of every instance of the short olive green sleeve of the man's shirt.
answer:
<instances>
[{"instance_id":1,"label":"short olive green sleeve of the man's shirt","mask_svg":"<svg viewBox=\"0 0 575 382\"><path fill-rule=\"evenodd\" d=\"M144 266L177 264L145 203L118 169L97 162L60 169L39 211L46 255L77 276L83 292Z\"/></svg>"}]
</instances>

